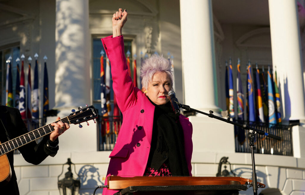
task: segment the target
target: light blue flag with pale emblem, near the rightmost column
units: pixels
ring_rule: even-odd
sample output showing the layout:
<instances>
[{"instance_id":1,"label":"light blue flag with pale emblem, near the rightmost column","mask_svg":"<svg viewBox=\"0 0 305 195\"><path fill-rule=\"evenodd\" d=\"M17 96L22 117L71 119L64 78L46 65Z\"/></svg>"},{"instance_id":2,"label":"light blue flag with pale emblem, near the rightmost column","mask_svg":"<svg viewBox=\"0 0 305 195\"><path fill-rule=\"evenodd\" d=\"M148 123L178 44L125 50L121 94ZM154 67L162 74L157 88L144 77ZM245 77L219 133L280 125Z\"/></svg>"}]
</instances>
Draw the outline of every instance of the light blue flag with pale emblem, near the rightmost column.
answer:
<instances>
[{"instance_id":1,"label":"light blue flag with pale emblem, near the rightmost column","mask_svg":"<svg viewBox=\"0 0 305 195\"><path fill-rule=\"evenodd\" d=\"M269 112L269 123L276 124L274 97L272 88L272 75L270 71L270 65L268 65L268 112Z\"/></svg>"}]
</instances>

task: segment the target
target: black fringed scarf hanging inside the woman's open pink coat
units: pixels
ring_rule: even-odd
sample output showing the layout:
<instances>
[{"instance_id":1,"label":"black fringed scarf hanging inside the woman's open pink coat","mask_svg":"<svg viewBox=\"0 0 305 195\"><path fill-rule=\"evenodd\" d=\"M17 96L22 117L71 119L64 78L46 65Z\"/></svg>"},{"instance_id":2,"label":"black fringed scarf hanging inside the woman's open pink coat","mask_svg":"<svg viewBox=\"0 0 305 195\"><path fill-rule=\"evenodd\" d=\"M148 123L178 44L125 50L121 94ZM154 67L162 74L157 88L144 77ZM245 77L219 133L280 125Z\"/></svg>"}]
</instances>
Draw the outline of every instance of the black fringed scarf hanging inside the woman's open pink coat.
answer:
<instances>
[{"instance_id":1,"label":"black fringed scarf hanging inside the woman's open pink coat","mask_svg":"<svg viewBox=\"0 0 305 195\"><path fill-rule=\"evenodd\" d=\"M155 106L155 112L147 166L158 170L165 163L173 176L189 176L179 116L174 114L170 102L165 105L150 102Z\"/></svg>"}]
</instances>

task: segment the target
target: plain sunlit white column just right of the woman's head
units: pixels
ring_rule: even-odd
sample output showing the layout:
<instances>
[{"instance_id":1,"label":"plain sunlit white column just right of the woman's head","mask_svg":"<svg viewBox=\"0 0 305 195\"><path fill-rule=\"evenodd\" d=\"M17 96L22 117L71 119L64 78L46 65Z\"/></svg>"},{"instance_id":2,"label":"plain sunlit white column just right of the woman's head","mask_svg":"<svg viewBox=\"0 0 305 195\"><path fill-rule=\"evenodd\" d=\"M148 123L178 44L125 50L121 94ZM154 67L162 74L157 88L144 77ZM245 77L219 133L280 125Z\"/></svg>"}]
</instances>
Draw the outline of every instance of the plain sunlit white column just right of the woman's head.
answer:
<instances>
[{"instance_id":1,"label":"plain sunlit white column just right of the woman's head","mask_svg":"<svg viewBox=\"0 0 305 195\"><path fill-rule=\"evenodd\" d=\"M180 20L185 104L219 112L211 0L180 0Z\"/></svg>"}]
</instances>

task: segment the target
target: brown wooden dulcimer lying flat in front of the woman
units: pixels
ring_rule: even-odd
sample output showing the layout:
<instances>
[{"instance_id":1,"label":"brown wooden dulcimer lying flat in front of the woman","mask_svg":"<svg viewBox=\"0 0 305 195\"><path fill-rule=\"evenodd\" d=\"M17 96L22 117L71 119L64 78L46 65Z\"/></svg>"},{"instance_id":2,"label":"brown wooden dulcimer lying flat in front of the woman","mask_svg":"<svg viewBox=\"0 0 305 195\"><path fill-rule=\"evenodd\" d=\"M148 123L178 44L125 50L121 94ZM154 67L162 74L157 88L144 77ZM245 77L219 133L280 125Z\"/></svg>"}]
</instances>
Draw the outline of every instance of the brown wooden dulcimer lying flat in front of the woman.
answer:
<instances>
[{"instance_id":1,"label":"brown wooden dulcimer lying flat in front of the woman","mask_svg":"<svg viewBox=\"0 0 305 195\"><path fill-rule=\"evenodd\" d=\"M240 190L247 190L247 185L252 182L242 177L120 177L109 176L109 190L120 190L116 195L151 195L151 194L175 194L175 195L216 195L239 194ZM265 185L257 183L260 188Z\"/></svg>"}]
</instances>

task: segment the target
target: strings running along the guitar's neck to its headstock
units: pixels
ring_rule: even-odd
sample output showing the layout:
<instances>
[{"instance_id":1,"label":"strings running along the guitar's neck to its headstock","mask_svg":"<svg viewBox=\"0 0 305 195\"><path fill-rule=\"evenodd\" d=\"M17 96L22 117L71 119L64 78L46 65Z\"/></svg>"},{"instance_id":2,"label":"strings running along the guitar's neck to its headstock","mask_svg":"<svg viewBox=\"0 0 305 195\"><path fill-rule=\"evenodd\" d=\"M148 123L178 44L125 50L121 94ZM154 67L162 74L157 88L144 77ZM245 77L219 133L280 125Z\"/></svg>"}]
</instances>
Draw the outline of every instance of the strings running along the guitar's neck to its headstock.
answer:
<instances>
[{"instance_id":1,"label":"strings running along the guitar's neck to its headstock","mask_svg":"<svg viewBox=\"0 0 305 195\"><path fill-rule=\"evenodd\" d=\"M79 114L82 114L83 112L79 112L78 114L76 114L76 115L71 115L70 117L75 117L75 116L77 116L77 115L79 115ZM91 116L91 115L90 115ZM86 117L86 116L85 116ZM89 115L87 116L87 117L89 117ZM82 117L80 117L80 118L82 118ZM74 118L73 120L77 120L77 119L80 119L80 118ZM72 119L69 119L68 117L64 117L63 119L60 119L60 120L58 120L58 121L55 121L54 123L57 123L57 122L59 122L59 121L62 121L63 123L66 123L66 122L68 122L68 121L71 121ZM89 120L91 120L91 119L89 119ZM82 121L82 122L84 122L84 121ZM71 123L70 123L71 124ZM44 129L44 127L47 127L48 129ZM42 132L40 132L41 130L43 130ZM19 148L19 147L21 147L21 146L23 146L23 145L25 145L25 144L27 144L27 143L30 143L30 142L32 142L32 141L34 141L34 140L36 140L36 139L39 139L39 138L41 138L41 137L43 137L43 136L45 136L45 135L48 135L49 133L51 133L51 132L53 132L54 131L54 126L52 126L52 125L45 125L45 126L43 126L43 127L40 127L40 128L38 128L38 129L35 129L35 130L33 130L33 131L31 131L31 132L28 132L28 133L26 133L26 134L24 134L24 135L21 135L21 136L19 136L19 137L17 137L17 138L15 138L15 139L12 139L12 140L9 140L9 141L7 141L7 142L5 142L5 143L3 143L3 144L0 144L0 151L1 151L1 153L2 153L2 155L3 154L5 154L5 153L8 153L8 152L10 152L10 151L12 151L12 150L15 150L15 149L17 149L17 148ZM44 135L42 135L41 136L41 134L40 133L45 133ZM32 135L30 135L30 133L32 133ZM36 133L36 134L35 134ZM25 135L27 135L28 136L28 138L25 138ZM33 139L33 135L34 135L34 138L35 139ZM39 135L39 137L38 138L36 138L37 136ZM31 137L32 136L32 137ZM32 138L32 139L31 139ZM19 139L18 141L17 141L17 139ZM28 141L28 139L30 140L30 141ZM18 145L18 147L15 147L15 143L13 142L15 140L15 142L17 143L17 145ZM23 142L26 142L25 144L23 144ZM12 147L10 146L10 144L9 144L9 142L11 142L12 143L12 145L14 146L14 149L12 149ZM10 149L9 149L9 147L6 145L6 143L8 144L8 146L10 147ZM20 143L21 143L21 145L20 145ZM8 150L7 152L5 151L5 149L4 149L4 147L3 147L3 145L6 147L6 149ZM2 146L2 148L1 148L1 146ZM2 150L4 151L4 153L2 152Z\"/></svg>"}]
</instances>

